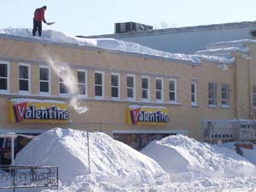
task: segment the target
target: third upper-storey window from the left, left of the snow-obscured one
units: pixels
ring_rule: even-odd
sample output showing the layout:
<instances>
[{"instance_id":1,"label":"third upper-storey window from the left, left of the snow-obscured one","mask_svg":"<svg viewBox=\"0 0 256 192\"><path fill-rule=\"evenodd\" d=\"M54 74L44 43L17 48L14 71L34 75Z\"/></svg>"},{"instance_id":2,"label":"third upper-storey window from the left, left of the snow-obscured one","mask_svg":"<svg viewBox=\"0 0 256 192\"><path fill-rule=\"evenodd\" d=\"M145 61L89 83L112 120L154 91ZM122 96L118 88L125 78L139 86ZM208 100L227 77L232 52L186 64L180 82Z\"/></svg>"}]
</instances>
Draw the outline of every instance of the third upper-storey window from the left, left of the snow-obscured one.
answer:
<instances>
[{"instance_id":1,"label":"third upper-storey window from the left, left of the snow-obscured one","mask_svg":"<svg viewBox=\"0 0 256 192\"><path fill-rule=\"evenodd\" d=\"M40 93L47 94L49 93L49 68L48 67L40 67Z\"/></svg>"}]
</instances>

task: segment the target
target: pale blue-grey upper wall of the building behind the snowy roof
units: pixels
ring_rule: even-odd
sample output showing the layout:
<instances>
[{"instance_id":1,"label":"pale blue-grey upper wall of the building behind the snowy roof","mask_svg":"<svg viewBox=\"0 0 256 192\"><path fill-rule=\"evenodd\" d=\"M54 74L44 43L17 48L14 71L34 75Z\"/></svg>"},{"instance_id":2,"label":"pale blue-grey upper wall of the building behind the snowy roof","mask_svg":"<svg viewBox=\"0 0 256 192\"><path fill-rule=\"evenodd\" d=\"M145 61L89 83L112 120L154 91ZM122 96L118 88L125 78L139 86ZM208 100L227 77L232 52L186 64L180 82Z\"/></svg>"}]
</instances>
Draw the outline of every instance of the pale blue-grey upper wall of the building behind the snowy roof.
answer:
<instances>
[{"instance_id":1,"label":"pale blue-grey upper wall of the building behind the snowy roof","mask_svg":"<svg viewBox=\"0 0 256 192\"><path fill-rule=\"evenodd\" d=\"M205 26L186 26L145 32L125 32L85 38L116 38L172 53L194 54L207 44L252 38L256 21L244 21Z\"/></svg>"}]
</instances>

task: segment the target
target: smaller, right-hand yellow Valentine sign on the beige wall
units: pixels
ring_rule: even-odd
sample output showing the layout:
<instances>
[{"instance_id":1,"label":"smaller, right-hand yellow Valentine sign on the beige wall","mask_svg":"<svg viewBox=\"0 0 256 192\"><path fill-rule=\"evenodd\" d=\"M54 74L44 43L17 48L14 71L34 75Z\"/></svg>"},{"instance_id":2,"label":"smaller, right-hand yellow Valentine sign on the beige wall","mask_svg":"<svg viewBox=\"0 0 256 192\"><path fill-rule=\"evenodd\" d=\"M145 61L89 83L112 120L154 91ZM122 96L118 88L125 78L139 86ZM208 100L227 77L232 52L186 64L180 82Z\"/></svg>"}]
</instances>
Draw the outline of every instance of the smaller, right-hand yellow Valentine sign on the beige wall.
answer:
<instances>
[{"instance_id":1,"label":"smaller, right-hand yellow Valentine sign on the beige wall","mask_svg":"<svg viewBox=\"0 0 256 192\"><path fill-rule=\"evenodd\" d=\"M128 125L166 125L170 122L170 113L164 107L132 105L126 109Z\"/></svg>"}]
</instances>

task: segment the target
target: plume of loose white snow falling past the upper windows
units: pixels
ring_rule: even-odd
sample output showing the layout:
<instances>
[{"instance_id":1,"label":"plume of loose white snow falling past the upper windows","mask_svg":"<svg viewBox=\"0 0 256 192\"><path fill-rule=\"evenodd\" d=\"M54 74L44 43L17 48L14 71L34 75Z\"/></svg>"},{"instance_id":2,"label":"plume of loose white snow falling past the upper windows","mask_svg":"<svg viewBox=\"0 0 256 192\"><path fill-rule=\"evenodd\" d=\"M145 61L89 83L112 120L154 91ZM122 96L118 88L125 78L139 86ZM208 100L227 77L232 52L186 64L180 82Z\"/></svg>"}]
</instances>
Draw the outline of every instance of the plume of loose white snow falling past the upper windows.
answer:
<instances>
[{"instance_id":1,"label":"plume of loose white snow falling past the upper windows","mask_svg":"<svg viewBox=\"0 0 256 192\"><path fill-rule=\"evenodd\" d=\"M78 97L78 82L74 77L72 70L70 67L68 67L67 63L53 61L49 56L46 56L46 61L48 62L49 66L52 67L54 72L58 74L60 79L62 79L63 84L66 85L68 94L71 96L69 105L72 106L73 109L79 114L87 112L89 109L80 105Z\"/></svg>"}]
</instances>

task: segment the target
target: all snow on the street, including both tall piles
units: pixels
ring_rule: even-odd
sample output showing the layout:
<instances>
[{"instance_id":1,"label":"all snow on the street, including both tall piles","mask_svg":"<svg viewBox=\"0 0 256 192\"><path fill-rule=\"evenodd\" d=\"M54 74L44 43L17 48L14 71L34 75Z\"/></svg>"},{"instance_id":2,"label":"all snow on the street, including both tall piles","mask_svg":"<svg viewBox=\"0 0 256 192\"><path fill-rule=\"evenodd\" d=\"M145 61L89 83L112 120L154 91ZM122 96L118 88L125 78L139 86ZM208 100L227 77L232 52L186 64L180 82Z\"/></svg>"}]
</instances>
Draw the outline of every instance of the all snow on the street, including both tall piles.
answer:
<instances>
[{"instance_id":1,"label":"all snow on the street, including both tall piles","mask_svg":"<svg viewBox=\"0 0 256 192\"><path fill-rule=\"evenodd\" d=\"M59 166L61 192L256 191L255 166L227 146L177 135L149 143L140 153L90 132L89 172L87 142L85 131L55 128L28 143L15 165Z\"/></svg>"}]
</instances>

